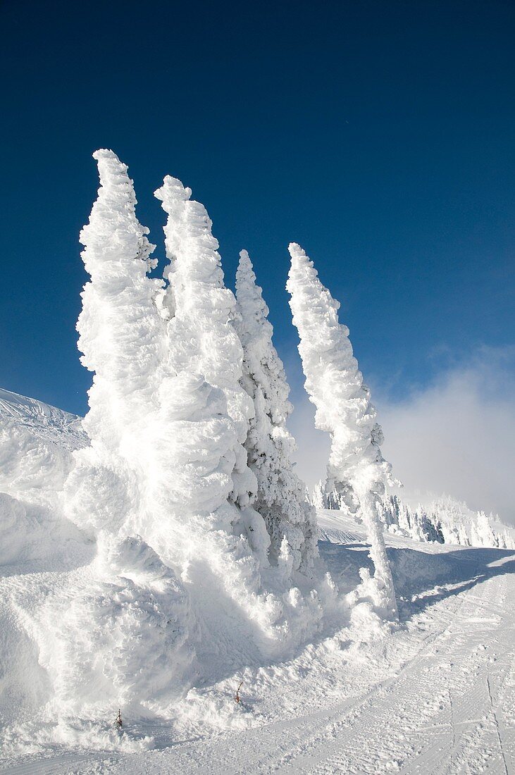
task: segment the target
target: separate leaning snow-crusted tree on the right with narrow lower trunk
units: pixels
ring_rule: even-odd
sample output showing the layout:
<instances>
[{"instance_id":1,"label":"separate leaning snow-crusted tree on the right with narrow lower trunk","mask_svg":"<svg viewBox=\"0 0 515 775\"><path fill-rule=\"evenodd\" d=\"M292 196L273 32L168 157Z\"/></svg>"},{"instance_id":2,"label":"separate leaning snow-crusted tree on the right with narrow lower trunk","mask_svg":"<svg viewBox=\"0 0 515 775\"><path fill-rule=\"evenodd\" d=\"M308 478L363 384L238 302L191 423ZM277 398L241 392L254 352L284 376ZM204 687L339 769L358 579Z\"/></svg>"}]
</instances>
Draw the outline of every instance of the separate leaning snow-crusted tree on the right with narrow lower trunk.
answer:
<instances>
[{"instance_id":1,"label":"separate leaning snow-crusted tree on the right with narrow lower trunk","mask_svg":"<svg viewBox=\"0 0 515 775\"><path fill-rule=\"evenodd\" d=\"M390 475L390 465L379 449L383 433L376 423L369 388L352 354L348 328L338 322L338 301L321 284L304 250L296 243L291 243L289 250L287 290L300 336L305 387L316 407L317 428L331 435L329 489L335 487L341 492L348 507L359 510L366 523L375 567L376 607L386 618L395 619L395 591L378 513Z\"/></svg>"}]
</instances>

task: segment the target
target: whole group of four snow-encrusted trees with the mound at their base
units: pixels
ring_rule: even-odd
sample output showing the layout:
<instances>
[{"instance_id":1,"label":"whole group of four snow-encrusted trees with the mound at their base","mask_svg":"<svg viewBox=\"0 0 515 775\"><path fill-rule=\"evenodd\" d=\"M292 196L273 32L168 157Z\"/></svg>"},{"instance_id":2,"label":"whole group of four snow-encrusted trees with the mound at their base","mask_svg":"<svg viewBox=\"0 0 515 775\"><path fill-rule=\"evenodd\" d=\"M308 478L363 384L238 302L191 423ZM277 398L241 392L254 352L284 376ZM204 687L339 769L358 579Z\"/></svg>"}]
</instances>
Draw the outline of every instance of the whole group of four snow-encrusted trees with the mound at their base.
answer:
<instances>
[{"instance_id":1,"label":"whole group of four snow-encrusted trees with the mound at their base","mask_svg":"<svg viewBox=\"0 0 515 775\"><path fill-rule=\"evenodd\" d=\"M290 653L321 626L335 585L316 512L294 473L283 364L248 253L236 296L191 190L165 177L163 279L127 167L99 150L101 188L82 257L77 323L94 373L64 512L97 543L87 582L49 613L50 671L69 715L161 712L201 675ZM379 506L390 477L338 302L290 245L287 282L306 388L331 435L328 476L366 522L375 566L362 598L395 621ZM88 625L88 622L90 623ZM116 698L116 699L115 699ZM99 710L101 709L101 711Z\"/></svg>"}]
</instances>

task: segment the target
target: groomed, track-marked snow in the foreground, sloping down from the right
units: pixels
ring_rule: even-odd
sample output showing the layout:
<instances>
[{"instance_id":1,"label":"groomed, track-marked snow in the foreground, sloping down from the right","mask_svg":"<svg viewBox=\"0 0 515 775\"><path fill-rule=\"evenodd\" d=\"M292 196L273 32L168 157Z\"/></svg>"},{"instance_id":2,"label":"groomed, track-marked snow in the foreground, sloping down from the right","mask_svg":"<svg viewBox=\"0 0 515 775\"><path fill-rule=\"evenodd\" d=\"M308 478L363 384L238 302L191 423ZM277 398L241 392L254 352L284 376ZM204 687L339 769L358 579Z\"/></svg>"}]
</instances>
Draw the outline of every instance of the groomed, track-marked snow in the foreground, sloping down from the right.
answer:
<instances>
[{"instance_id":1,"label":"groomed, track-marked snow in the foreground, sloping down from the right","mask_svg":"<svg viewBox=\"0 0 515 775\"><path fill-rule=\"evenodd\" d=\"M352 587L367 563L361 525L338 512L321 512L319 523L331 574ZM515 773L515 554L387 540L401 626L386 639L362 642L359 623L335 626L288 663L247 668L218 684L211 714L206 687L203 715L185 712L173 731L132 729L125 719L133 739L153 735L151 750L34 746L0 760L0 770ZM51 570L3 577L3 626L24 596L36 601L60 578ZM15 701L15 684L9 691Z\"/></svg>"}]
</instances>

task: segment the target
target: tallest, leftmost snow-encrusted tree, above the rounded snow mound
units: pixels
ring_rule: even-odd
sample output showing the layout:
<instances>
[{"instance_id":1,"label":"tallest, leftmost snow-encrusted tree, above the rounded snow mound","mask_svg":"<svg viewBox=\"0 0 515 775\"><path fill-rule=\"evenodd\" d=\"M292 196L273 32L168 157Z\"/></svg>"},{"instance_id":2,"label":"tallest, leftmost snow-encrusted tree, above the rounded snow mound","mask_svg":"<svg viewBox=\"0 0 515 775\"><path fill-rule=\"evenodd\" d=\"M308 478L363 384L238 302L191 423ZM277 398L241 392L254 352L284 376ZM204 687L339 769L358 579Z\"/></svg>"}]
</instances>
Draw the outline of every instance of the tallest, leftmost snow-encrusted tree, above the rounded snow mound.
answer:
<instances>
[{"instance_id":1,"label":"tallest, leftmost snow-encrusted tree, above the rounded snow mound","mask_svg":"<svg viewBox=\"0 0 515 775\"><path fill-rule=\"evenodd\" d=\"M127 167L112 151L99 150L94 158L101 188L81 231L91 281L81 294L77 322L81 362L94 373L84 418L91 447L76 455L67 503L72 518L77 508L81 527L128 534L143 532L145 522L137 483L150 463L149 418L156 412L166 346L154 303L162 282L147 276L154 246L136 219Z\"/></svg>"}]
</instances>

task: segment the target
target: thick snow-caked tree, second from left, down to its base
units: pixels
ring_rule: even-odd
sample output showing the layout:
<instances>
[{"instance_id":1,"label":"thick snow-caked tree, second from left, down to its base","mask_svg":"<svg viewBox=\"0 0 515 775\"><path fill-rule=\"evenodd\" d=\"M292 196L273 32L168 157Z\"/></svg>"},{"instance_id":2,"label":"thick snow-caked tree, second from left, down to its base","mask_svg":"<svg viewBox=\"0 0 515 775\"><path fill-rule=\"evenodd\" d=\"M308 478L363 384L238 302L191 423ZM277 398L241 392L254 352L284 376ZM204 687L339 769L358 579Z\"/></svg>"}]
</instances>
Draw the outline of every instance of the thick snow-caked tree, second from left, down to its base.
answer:
<instances>
[{"instance_id":1,"label":"thick snow-caked tree, second from left, down to its base","mask_svg":"<svg viewBox=\"0 0 515 775\"><path fill-rule=\"evenodd\" d=\"M195 610L201 611L201 647L208 651L217 642L239 639L234 653L229 647L216 657L234 666L242 642L244 649L276 649L297 638L292 619L300 620L307 604L290 594L290 584L279 583L267 556L265 522L252 508L257 482L243 443L254 408L240 384L236 302L225 288L211 220L176 178L166 177L156 197L168 215L170 266L160 298L167 359L160 384L163 434L155 456L163 481L157 480L153 498L167 487L175 516L161 525L160 551L180 564ZM310 606L318 617L315 598ZM310 629L314 616L307 611L302 616Z\"/></svg>"}]
</instances>

